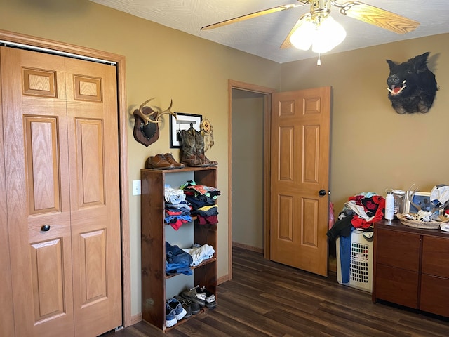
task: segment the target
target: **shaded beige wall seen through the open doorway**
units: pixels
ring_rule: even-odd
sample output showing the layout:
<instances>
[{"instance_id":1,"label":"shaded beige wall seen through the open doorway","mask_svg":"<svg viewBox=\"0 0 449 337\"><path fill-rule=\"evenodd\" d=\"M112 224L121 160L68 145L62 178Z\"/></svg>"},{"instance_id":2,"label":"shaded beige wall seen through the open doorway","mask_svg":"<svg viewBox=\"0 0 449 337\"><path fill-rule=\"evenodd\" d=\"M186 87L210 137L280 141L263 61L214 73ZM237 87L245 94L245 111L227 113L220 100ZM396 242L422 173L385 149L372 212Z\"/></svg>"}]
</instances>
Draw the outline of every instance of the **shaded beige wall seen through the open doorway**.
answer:
<instances>
[{"instance_id":1,"label":"shaded beige wall seen through the open doorway","mask_svg":"<svg viewBox=\"0 0 449 337\"><path fill-rule=\"evenodd\" d=\"M232 90L232 242L263 248L264 95Z\"/></svg>"}]
</instances>

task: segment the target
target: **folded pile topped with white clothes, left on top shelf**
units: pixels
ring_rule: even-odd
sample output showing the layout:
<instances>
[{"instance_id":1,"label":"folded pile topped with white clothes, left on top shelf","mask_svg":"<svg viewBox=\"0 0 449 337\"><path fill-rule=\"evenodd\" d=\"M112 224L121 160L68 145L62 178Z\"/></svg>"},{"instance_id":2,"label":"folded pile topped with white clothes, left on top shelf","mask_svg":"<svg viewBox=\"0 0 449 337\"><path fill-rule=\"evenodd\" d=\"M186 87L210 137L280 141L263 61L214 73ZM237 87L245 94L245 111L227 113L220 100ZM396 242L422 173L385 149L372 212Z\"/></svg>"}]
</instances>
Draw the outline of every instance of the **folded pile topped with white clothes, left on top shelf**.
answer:
<instances>
[{"instance_id":1,"label":"folded pile topped with white clothes, left on top shelf","mask_svg":"<svg viewBox=\"0 0 449 337\"><path fill-rule=\"evenodd\" d=\"M183 190L165 185L164 197L166 201L165 222L173 229L179 230L184 223L192 221L190 206L187 204Z\"/></svg>"}]
</instances>

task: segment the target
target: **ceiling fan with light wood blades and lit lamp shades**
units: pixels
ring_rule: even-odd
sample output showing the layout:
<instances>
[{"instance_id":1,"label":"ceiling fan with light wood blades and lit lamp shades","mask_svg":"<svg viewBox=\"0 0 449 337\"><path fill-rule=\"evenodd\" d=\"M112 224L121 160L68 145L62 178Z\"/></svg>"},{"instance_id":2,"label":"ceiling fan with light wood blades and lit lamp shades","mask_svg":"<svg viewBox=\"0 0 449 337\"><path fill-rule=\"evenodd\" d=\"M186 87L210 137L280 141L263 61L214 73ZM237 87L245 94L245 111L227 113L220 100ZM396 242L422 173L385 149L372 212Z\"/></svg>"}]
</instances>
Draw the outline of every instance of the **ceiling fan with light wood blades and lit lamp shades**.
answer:
<instances>
[{"instance_id":1,"label":"ceiling fan with light wood blades and lit lamp shades","mask_svg":"<svg viewBox=\"0 0 449 337\"><path fill-rule=\"evenodd\" d=\"M340 44L346 37L343 27L330 17L332 7L338 8L342 15L367 22L388 29L391 32L405 34L412 32L420 25L420 22L405 18L401 15L385 11L382 8L363 4L360 1L347 1L339 4L334 0L297 0L299 4L286 4L283 6L268 8L237 18L214 23L201 27L201 30L215 29L235 22L257 18L261 15L286 11L288 9L310 4L310 11L297 20L286 39L281 44L281 49L295 46L303 50L312 50L316 53L326 53Z\"/></svg>"}]
</instances>

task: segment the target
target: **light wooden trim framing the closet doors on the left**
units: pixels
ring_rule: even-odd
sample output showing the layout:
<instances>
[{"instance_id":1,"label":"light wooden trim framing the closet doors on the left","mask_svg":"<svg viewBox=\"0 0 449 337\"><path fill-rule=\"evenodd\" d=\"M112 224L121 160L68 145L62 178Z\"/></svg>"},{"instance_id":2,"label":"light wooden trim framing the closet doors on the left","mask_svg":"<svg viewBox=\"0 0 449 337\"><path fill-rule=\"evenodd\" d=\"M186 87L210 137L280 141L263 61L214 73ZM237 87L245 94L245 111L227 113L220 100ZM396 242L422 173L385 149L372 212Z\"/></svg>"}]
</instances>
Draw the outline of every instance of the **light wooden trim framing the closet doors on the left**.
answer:
<instances>
[{"instance_id":1,"label":"light wooden trim framing the closet doors on the left","mask_svg":"<svg viewBox=\"0 0 449 337\"><path fill-rule=\"evenodd\" d=\"M49 39L41 39L25 34L8 32L0 29L0 39L23 44L26 46L51 49L63 53L81 55L116 63L117 100L119 117L119 166L120 166L120 216L121 216L121 276L122 276L122 324L130 326L135 323L131 317L131 286L130 286L130 224L129 224L129 187L128 187L128 138L126 111L126 69L125 57L105 51L65 44Z\"/></svg>"}]
</instances>

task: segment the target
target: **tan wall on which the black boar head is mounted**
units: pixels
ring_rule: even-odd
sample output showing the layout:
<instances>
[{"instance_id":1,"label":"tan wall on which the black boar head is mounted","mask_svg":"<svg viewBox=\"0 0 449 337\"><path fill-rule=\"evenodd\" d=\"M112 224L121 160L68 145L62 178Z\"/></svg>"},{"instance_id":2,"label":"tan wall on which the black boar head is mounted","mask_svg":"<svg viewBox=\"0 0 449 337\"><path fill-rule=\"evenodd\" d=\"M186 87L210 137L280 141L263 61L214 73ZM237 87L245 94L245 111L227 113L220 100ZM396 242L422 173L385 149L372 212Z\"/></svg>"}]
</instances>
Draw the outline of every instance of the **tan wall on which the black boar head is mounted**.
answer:
<instances>
[{"instance_id":1,"label":"tan wall on which the black boar head is mounted","mask_svg":"<svg viewBox=\"0 0 449 337\"><path fill-rule=\"evenodd\" d=\"M440 90L427 114L397 114L387 98L386 59L403 62L430 51ZM385 194L413 183L429 191L449 184L449 34L284 64L281 91L332 86L330 191L335 212L359 192Z\"/></svg>"}]
</instances>

